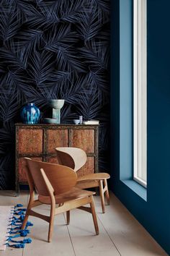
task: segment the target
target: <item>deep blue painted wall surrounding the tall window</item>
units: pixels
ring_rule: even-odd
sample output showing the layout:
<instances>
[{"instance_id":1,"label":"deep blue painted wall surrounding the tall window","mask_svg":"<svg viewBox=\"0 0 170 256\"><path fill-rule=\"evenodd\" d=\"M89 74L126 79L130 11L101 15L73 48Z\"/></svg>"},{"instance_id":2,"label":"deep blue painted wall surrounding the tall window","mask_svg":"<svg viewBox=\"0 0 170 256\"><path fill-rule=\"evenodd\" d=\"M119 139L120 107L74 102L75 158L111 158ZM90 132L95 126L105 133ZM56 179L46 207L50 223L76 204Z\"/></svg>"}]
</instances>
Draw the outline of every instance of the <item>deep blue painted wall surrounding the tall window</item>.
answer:
<instances>
[{"instance_id":1,"label":"deep blue painted wall surrounding the tall window","mask_svg":"<svg viewBox=\"0 0 170 256\"><path fill-rule=\"evenodd\" d=\"M112 4L112 190L170 254L170 1L148 0L147 9L147 201L122 182L133 173L132 0Z\"/></svg>"}]
</instances>

